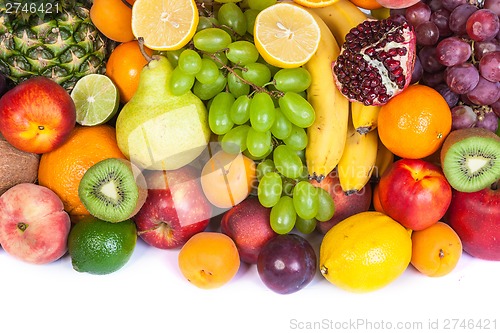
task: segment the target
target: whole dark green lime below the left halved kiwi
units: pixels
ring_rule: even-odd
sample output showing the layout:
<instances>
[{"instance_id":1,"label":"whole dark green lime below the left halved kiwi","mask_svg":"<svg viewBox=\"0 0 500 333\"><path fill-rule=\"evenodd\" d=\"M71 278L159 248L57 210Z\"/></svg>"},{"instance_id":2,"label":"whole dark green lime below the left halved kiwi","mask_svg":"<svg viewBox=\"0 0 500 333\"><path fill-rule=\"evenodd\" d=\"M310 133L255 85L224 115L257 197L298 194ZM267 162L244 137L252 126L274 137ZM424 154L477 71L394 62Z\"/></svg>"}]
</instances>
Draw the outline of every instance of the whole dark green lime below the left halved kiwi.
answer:
<instances>
[{"instance_id":1,"label":"whole dark green lime below the left halved kiwi","mask_svg":"<svg viewBox=\"0 0 500 333\"><path fill-rule=\"evenodd\" d=\"M137 228L132 220L111 223L90 216L71 228L68 252L76 271L104 275L129 261L136 242Z\"/></svg>"}]
</instances>

